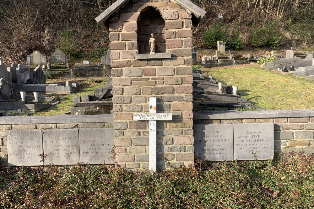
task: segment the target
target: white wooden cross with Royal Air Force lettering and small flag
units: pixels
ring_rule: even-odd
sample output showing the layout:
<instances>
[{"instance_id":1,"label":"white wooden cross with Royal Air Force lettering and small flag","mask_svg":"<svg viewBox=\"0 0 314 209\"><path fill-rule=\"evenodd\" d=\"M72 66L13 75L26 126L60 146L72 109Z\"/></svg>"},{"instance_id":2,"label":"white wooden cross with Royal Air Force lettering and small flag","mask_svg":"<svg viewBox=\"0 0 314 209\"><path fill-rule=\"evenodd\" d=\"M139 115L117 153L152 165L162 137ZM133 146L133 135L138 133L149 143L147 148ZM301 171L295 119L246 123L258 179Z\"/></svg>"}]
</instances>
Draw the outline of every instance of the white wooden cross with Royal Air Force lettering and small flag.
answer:
<instances>
[{"instance_id":1,"label":"white wooden cross with Royal Air Force lettering and small flag","mask_svg":"<svg viewBox=\"0 0 314 209\"><path fill-rule=\"evenodd\" d=\"M149 113L134 113L133 120L149 120L149 170L156 170L157 120L172 120L172 113L156 113L156 97L149 98Z\"/></svg>"}]
</instances>

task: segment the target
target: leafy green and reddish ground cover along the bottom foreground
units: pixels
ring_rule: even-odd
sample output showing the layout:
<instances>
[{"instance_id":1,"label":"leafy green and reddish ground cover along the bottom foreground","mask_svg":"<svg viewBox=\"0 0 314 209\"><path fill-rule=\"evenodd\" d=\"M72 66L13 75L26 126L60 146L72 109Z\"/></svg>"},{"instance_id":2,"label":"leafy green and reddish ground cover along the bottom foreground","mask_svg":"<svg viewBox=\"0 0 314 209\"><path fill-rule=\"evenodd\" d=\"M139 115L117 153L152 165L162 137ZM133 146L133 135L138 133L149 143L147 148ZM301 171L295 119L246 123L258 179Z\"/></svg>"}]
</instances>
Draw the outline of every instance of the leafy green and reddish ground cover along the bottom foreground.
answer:
<instances>
[{"instance_id":1,"label":"leafy green and reddish ground cover along the bottom foreground","mask_svg":"<svg viewBox=\"0 0 314 209\"><path fill-rule=\"evenodd\" d=\"M106 165L0 170L1 208L313 208L313 155L149 173ZM200 168L202 167L202 168Z\"/></svg>"}]
</instances>

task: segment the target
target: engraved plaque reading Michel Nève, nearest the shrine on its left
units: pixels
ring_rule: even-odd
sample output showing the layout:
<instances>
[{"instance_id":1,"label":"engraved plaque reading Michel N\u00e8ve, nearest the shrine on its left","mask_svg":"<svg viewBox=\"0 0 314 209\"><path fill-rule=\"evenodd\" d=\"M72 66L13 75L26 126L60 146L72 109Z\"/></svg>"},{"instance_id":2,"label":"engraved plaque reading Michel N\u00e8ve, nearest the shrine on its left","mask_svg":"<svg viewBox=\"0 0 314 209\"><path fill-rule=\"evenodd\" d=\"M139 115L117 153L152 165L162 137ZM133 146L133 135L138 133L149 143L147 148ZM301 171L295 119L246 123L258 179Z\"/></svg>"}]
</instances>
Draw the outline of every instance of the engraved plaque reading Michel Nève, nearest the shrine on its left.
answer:
<instances>
[{"instance_id":1,"label":"engraved plaque reading Michel N\u00e8ve, nearest the shrine on its left","mask_svg":"<svg viewBox=\"0 0 314 209\"><path fill-rule=\"evenodd\" d=\"M114 164L113 128L80 128L80 162L85 164Z\"/></svg>"}]
</instances>

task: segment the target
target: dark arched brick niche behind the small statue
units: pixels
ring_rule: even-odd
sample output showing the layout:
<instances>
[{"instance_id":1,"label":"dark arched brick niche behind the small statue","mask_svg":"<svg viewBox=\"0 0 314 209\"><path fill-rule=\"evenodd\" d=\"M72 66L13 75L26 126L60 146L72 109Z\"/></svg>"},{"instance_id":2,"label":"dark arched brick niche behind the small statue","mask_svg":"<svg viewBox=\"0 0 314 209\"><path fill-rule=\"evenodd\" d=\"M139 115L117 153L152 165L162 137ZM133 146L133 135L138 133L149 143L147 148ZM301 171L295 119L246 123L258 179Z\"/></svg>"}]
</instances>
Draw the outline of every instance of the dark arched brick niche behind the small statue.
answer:
<instances>
[{"instance_id":1,"label":"dark arched brick niche behind the small statue","mask_svg":"<svg viewBox=\"0 0 314 209\"><path fill-rule=\"evenodd\" d=\"M154 34L155 53L166 52L165 20L160 13L149 6L142 10L138 18L138 53L149 54L150 35Z\"/></svg>"}]
</instances>

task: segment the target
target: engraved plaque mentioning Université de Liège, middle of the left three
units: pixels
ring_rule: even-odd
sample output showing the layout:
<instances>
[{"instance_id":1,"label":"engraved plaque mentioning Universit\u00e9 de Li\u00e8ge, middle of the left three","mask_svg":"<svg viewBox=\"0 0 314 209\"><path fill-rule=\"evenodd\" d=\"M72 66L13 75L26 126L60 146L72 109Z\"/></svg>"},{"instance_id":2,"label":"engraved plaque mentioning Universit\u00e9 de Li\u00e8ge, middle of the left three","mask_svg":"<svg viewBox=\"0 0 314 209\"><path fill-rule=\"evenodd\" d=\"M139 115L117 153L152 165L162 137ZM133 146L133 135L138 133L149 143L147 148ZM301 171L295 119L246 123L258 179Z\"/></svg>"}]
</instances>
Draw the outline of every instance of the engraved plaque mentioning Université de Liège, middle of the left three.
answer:
<instances>
[{"instance_id":1,"label":"engraved plaque mentioning Universit\u00e9 de Li\u00e8ge, middle of the left three","mask_svg":"<svg viewBox=\"0 0 314 209\"><path fill-rule=\"evenodd\" d=\"M79 162L78 129L49 129L42 135L45 165L75 165Z\"/></svg>"}]
</instances>

